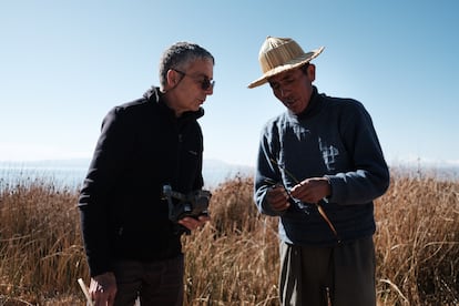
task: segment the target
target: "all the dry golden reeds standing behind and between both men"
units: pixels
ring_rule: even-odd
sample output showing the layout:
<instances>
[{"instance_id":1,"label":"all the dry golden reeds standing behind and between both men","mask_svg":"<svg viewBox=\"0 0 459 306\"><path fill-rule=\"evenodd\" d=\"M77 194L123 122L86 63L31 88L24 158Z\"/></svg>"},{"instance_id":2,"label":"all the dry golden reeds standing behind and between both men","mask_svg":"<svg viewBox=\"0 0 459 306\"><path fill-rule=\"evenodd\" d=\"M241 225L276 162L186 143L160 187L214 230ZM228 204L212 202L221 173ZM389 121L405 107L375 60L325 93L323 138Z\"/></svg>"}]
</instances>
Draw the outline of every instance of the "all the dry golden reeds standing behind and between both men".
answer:
<instances>
[{"instance_id":1,"label":"all the dry golden reeds standing behind and between both men","mask_svg":"<svg viewBox=\"0 0 459 306\"><path fill-rule=\"evenodd\" d=\"M84 305L76 190L0 180L0 305ZM183 237L185 305L278 305L277 220L253 181L213 190L212 222ZM459 182L392 171L376 201L380 305L459 305Z\"/></svg>"}]
</instances>

